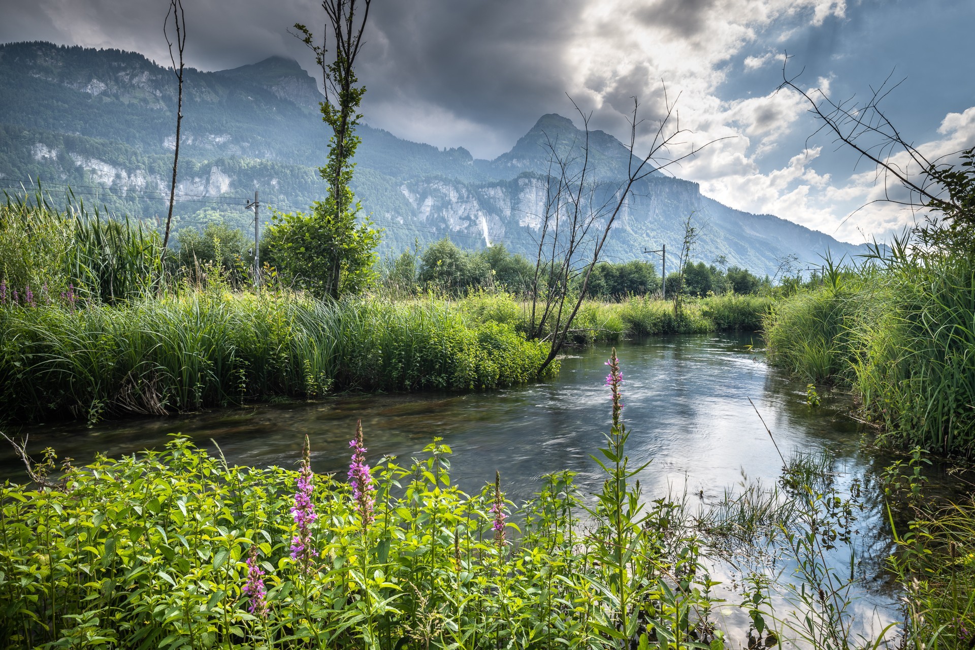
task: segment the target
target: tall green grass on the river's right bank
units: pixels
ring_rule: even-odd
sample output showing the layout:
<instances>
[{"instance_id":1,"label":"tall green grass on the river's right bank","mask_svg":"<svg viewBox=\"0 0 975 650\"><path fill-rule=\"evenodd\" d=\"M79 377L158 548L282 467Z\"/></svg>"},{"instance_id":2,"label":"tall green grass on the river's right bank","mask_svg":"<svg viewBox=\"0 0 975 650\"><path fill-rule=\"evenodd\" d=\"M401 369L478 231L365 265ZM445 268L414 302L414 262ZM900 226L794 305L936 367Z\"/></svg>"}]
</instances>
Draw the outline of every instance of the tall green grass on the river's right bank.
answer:
<instances>
[{"instance_id":1,"label":"tall green grass on the river's right bank","mask_svg":"<svg viewBox=\"0 0 975 650\"><path fill-rule=\"evenodd\" d=\"M975 451L975 264L897 242L852 272L777 302L768 359L851 387L880 441Z\"/></svg>"}]
</instances>

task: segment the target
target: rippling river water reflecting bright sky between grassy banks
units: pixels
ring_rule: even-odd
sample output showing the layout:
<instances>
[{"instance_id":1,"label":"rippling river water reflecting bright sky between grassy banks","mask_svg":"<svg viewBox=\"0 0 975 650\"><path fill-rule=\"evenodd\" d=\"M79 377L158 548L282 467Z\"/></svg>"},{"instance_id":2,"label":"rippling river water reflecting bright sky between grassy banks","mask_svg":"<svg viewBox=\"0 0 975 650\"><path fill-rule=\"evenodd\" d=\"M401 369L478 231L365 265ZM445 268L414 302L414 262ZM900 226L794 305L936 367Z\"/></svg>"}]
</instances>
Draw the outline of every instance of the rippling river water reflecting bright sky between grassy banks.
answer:
<instances>
[{"instance_id":1,"label":"rippling river water reflecting bright sky between grassy banks","mask_svg":"<svg viewBox=\"0 0 975 650\"><path fill-rule=\"evenodd\" d=\"M863 478L868 488L889 464L888 457L860 444L857 423L846 415L851 405L846 396L828 395L822 405L810 407L805 385L767 366L753 345L760 347L761 338L719 334L656 337L617 346L624 375L623 415L632 431L627 450L634 463L652 460L639 477L647 498L669 491L703 507L745 477L774 484L782 460L766 425L786 457L793 450L827 450L843 480ZM373 462L395 454L401 465L408 463L440 437L453 450L451 475L466 490L479 489L499 470L508 497L517 501L538 488L542 475L568 469L578 473L585 495L603 482L589 454L602 444L609 427L609 391L604 386L608 356L608 346L570 354L555 380L507 390L346 395L11 433L29 434L34 453L52 446L76 464L96 452L119 455L158 448L169 434L181 432L212 449L218 445L231 464L284 467L296 464L307 435L313 469L343 472L348 440L361 419ZM0 452L0 476L22 478L7 448ZM889 620L895 594L885 586L880 568L889 539L882 532L876 500L860 523L864 533L857 544L865 558L865 580L856 607L864 610L864 619L868 610L878 608L880 620Z\"/></svg>"}]
</instances>

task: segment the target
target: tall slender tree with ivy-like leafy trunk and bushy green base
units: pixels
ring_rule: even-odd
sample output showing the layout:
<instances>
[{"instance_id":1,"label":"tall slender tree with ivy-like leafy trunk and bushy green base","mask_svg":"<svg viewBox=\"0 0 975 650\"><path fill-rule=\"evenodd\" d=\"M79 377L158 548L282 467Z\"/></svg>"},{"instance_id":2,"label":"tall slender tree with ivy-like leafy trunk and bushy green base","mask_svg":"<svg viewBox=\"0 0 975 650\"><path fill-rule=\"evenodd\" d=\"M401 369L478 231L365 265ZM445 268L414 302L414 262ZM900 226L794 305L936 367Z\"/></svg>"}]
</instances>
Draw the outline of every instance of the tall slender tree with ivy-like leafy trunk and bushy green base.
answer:
<instances>
[{"instance_id":1,"label":"tall slender tree with ivy-like leafy trunk and bushy green base","mask_svg":"<svg viewBox=\"0 0 975 650\"><path fill-rule=\"evenodd\" d=\"M322 70L325 101L320 108L332 135L328 161L319 173L329 183L329 193L308 213L276 214L268 230L280 268L305 287L337 298L343 291L362 288L371 277L367 267L375 259L382 232L371 227L368 217L359 222L362 206L349 188L355 170L352 158L361 141L355 134L363 117L359 106L366 93L365 87L356 85L355 60L362 50L370 0L324 0L322 9L328 24L321 45L305 25L295 23L294 28Z\"/></svg>"}]
</instances>

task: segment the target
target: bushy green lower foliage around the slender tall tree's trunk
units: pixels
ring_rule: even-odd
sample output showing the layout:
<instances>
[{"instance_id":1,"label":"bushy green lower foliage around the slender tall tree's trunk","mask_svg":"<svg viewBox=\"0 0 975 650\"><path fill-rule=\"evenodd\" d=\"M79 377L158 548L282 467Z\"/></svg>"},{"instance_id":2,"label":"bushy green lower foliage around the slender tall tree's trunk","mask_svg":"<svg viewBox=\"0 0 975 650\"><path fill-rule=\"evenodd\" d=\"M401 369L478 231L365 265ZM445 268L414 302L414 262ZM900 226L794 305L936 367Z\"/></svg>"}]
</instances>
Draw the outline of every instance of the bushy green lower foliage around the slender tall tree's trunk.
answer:
<instances>
[{"instance_id":1,"label":"bushy green lower foliage around the slender tall tree's trunk","mask_svg":"<svg viewBox=\"0 0 975 650\"><path fill-rule=\"evenodd\" d=\"M345 192L351 197L351 192ZM361 292L375 279L381 230L354 210L335 210L331 197L305 212L275 212L266 228L267 261L292 287L335 297Z\"/></svg>"}]
</instances>

